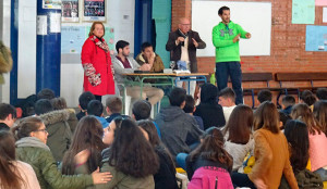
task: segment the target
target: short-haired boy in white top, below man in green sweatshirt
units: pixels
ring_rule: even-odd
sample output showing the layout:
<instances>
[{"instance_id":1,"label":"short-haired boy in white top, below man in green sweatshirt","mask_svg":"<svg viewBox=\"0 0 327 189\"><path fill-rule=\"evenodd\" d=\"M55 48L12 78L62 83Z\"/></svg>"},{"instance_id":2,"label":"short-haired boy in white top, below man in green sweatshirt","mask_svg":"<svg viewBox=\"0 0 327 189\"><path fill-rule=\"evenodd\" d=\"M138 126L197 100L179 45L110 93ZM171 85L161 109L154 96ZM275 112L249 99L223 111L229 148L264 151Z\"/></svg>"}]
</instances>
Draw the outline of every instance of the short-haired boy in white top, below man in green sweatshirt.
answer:
<instances>
[{"instance_id":1,"label":"short-haired boy in white top, below man in green sweatshirt","mask_svg":"<svg viewBox=\"0 0 327 189\"><path fill-rule=\"evenodd\" d=\"M222 106L223 116L225 116L225 121L227 124L229 121L230 114L237 106L237 104L235 104L237 94L232 88L227 87L219 91L218 99L219 99L218 104L220 104Z\"/></svg>"}]
</instances>

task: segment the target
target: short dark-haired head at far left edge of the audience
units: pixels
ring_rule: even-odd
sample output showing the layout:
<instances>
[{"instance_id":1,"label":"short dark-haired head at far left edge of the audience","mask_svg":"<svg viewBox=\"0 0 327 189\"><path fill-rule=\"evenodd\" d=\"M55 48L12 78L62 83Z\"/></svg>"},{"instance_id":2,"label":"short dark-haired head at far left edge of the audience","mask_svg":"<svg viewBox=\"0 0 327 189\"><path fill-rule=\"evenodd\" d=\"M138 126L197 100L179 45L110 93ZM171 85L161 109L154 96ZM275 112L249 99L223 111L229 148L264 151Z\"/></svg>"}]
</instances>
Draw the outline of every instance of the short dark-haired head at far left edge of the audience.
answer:
<instances>
[{"instance_id":1,"label":"short dark-haired head at far left edge of the audience","mask_svg":"<svg viewBox=\"0 0 327 189\"><path fill-rule=\"evenodd\" d=\"M0 123L13 126L16 118L16 109L8 103L0 103Z\"/></svg>"}]
</instances>

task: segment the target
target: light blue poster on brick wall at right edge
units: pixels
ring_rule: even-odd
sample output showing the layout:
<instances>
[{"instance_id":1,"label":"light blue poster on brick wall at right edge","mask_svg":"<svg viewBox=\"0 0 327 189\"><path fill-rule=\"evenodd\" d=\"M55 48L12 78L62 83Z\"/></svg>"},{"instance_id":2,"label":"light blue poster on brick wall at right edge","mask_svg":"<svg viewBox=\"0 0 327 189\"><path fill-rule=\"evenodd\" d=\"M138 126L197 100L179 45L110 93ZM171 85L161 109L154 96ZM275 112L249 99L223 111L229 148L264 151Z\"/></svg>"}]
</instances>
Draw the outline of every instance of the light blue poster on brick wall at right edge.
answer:
<instances>
[{"instance_id":1,"label":"light blue poster on brick wall at right edge","mask_svg":"<svg viewBox=\"0 0 327 189\"><path fill-rule=\"evenodd\" d=\"M306 26L305 51L327 51L327 26Z\"/></svg>"}]
</instances>

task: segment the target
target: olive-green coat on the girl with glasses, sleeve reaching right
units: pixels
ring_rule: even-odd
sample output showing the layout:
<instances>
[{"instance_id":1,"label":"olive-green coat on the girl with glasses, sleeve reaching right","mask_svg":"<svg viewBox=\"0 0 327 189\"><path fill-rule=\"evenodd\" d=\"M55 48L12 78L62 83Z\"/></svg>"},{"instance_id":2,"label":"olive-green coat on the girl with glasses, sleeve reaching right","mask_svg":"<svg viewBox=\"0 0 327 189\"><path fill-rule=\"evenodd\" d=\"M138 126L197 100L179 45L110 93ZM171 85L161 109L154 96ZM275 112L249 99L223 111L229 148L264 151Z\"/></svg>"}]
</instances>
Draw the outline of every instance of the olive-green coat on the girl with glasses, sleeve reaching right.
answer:
<instances>
[{"instance_id":1,"label":"olive-green coat on the girl with glasses, sleeve reaching right","mask_svg":"<svg viewBox=\"0 0 327 189\"><path fill-rule=\"evenodd\" d=\"M93 185L90 175L61 175L49 148L35 137L16 141L16 156L32 165L41 189L81 189Z\"/></svg>"}]
</instances>

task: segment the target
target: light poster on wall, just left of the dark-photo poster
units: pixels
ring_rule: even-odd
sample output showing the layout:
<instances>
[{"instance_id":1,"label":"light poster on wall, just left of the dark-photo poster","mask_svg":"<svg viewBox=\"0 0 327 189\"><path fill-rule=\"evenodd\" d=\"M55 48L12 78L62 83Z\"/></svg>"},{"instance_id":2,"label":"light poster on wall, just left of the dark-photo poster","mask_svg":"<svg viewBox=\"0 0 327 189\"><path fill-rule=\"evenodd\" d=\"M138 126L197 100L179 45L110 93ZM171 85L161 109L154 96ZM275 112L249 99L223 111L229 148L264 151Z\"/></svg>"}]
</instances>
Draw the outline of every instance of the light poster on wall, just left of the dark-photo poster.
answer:
<instances>
[{"instance_id":1,"label":"light poster on wall, just left of the dark-photo poster","mask_svg":"<svg viewBox=\"0 0 327 189\"><path fill-rule=\"evenodd\" d=\"M62 0L62 22L78 22L78 0Z\"/></svg>"}]
</instances>

